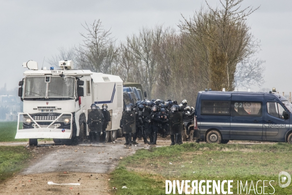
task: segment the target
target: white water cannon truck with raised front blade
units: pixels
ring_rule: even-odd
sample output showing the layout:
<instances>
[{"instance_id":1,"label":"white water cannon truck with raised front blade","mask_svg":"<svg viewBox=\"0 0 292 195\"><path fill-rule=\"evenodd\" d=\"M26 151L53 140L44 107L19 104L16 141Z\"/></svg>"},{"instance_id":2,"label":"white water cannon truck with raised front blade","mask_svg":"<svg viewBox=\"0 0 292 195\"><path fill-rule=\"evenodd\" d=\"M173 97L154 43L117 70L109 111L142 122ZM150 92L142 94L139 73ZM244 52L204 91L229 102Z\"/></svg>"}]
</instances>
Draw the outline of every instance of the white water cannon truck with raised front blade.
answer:
<instances>
[{"instance_id":1,"label":"white water cannon truck with raised front blade","mask_svg":"<svg viewBox=\"0 0 292 195\"><path fill-rule=\"evenodd\" d=\"M73 61L59 61L60 69L38 70L37 62L28 61L19 81L18 96L23 113L18 114L16 139L53 138L55 143L78 144L90 136L88 110L95 103L108 105L111 121L106 141L114 141L123 112L123 81L120 77L90 70L73 69Z\"/></svg>"}]
</instances>

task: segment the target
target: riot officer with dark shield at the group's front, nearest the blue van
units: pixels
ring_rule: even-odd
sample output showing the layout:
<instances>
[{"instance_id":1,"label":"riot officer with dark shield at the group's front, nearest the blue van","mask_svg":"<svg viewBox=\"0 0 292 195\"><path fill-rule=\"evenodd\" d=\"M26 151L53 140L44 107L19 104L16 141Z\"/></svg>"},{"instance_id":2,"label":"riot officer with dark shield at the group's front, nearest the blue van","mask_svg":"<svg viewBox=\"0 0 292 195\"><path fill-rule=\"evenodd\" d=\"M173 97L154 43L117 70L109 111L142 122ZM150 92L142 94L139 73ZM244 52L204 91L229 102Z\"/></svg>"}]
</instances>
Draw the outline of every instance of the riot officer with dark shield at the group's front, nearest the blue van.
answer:
<instances>
[{"instance_id":1,"label":"riot officer with dark shield at the group's front, nearest the blue van","mask_svg":"<svg viewBox=\"0 0 292 195\"><path fill-rule=\"evenodd\" d=\"M180 144L180 137L183 131L183 114L178 111L178 105L173 105L171 107L171 112L169 113L169 129L171 144Z\"/></svg>"}]
</instances>

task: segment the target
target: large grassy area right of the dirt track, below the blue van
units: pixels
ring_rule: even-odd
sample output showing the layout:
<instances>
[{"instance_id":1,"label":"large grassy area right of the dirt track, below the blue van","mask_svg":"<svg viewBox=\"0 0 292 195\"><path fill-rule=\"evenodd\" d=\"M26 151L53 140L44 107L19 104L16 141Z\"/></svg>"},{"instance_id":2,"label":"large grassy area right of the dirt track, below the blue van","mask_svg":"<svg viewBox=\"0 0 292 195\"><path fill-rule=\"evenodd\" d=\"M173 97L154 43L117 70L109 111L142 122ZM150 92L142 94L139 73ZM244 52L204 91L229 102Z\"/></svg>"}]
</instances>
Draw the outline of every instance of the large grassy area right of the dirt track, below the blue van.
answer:
<instances>
[{"instance_id":1,"label":"large grassy area right of the dirt track, below the blue van","mask_svg":"<svg viewBox=\"0 0 292 195\"><path fill-rule=\"evenodd\" d=\"M233 180L233 194L237 194L237 180L248 181L249 188L251 181L256 186L258 180L274 180L271 182L274 194L291 195L292 185L287 188L278 186L279 172L292 174L291 151L292 145L286 143L185 143L142 149L121 160L118 168L111 173L110 186L118 189L115 193L118 195L159 195L165 194L165 180L226 179ZM123 186L128 189L122 189ZM274 189L269 185L265 193L272 194ZM250 194L255 193L251 191Z\"/></svg>"}]
</instances>

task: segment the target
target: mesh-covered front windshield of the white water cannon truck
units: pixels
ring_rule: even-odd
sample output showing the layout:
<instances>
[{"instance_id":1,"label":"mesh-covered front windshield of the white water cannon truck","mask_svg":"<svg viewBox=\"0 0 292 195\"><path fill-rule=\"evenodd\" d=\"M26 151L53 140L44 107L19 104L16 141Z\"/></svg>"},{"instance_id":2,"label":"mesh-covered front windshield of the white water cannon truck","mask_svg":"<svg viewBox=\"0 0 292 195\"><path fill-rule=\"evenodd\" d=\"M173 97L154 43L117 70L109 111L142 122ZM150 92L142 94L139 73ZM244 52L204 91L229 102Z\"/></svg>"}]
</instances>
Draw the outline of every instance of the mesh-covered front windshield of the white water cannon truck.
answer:
<instances>
[{"instance_id":1,"label":"mesh-covered front windshield of the white water cannon truck","mask_svg":"<svg viewBox=\"0 0 292 195\"><path fill-rule=\"evenodd\" d=\"M23 98L74 98L74 91L74 77L27 77Z\"/></svg>"}]
</instances>

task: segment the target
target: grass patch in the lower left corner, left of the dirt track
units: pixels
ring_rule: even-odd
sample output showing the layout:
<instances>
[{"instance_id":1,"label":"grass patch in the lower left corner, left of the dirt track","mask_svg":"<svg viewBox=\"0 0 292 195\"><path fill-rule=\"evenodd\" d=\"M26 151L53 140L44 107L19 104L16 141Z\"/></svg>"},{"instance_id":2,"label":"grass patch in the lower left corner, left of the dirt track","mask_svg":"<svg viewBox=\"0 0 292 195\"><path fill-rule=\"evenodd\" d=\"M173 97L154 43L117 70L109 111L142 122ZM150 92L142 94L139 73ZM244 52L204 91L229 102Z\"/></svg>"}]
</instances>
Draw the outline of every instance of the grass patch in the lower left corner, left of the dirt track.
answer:
<instances>
[{"instance_id":1,"label":"grass patch in the lower left corner, left of the dirt track","mask_svg":"<svg viewBox=\"0 0 292 195\"><path fill-rule=\"evenodd\" d=\"M29 156L24 146L0 146L0 181L25 167Z\"/></svg>"}]
</instances>

